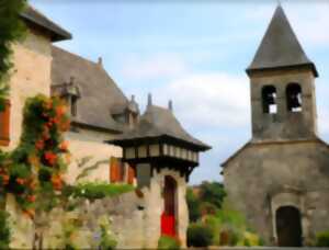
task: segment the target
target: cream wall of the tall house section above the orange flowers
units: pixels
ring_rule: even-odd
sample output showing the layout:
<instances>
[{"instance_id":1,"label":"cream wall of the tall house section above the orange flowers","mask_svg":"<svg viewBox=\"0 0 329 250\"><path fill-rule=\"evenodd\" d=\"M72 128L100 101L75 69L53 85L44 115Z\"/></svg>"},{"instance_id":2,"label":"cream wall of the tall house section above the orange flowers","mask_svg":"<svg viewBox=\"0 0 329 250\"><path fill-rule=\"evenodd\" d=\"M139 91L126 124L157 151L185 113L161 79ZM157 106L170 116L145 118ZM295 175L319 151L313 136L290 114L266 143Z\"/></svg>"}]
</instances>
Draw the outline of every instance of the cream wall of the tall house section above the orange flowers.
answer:
<instances>
[{"instance_id":1,"label":"cream wall of the tall house section above the orange flowers","mask_svg":"<svg viewBox=\"0 0 329 250\"><path fill-rule=\"evenodd\" d=\"M10 79L10 145L3 148L4 150L15 148L20 141L26 99L38 93L50 94L50 39L31 31L22 43L13 45L13 50L14 68Z\"/></svg>"}]
</instances>

